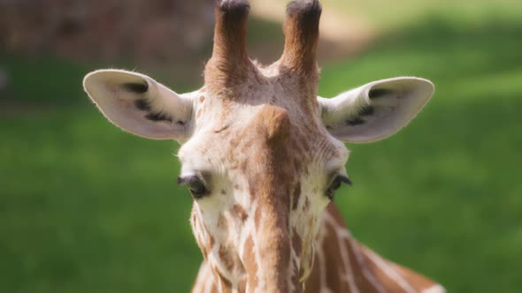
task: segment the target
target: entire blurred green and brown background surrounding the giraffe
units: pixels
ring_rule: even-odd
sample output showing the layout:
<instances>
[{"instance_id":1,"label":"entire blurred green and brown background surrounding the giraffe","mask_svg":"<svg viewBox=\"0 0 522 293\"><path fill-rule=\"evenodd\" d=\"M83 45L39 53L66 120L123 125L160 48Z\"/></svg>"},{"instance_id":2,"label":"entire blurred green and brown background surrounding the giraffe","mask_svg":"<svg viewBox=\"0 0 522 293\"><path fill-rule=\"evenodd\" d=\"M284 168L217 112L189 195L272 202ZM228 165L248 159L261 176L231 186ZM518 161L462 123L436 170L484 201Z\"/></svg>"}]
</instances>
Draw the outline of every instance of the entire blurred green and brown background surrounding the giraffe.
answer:
<instances>
[{"instance_id":1,"label":"entire blurred green and brown background surrounding the giraffe","mask_svg":"<svg viewBox=\"0 0 522 293\"><path fill-rule=\"evenodd\" d=\"M201 86L210 0L0 0L0 291L187 292L201 254L177 144L105 121L83 76ZM252 1L279 57L284 1ZM399 75L437 92L393 138L349 146L352 233L449 292L522 290L522 2L323 0L319 92Z\"/></svg>"}]
</instances>

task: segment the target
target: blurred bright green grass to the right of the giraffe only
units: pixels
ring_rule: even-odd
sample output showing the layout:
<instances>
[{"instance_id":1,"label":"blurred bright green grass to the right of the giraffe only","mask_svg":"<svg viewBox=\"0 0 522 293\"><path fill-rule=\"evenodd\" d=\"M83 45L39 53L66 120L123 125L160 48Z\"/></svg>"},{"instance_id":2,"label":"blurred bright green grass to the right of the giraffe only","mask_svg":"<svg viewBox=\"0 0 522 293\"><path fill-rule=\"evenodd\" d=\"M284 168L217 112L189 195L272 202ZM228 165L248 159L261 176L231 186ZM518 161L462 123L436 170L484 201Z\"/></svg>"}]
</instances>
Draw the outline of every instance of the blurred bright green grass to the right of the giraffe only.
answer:
<instances>
[{"instance_id":1,"label":"blurred bright green grass to the right of the giraffe only","mask_svg":"<svg viewBox=\"0 0 522 293\"><path fill-rule=\"evenodd\" d=\"M432 79L434 100L392 139L350 146L337 197L355 235L451 292L522 289L522 24L428 19L353 62L327 66L331 96L372 78Z\"/></svg>"}]
</instances>

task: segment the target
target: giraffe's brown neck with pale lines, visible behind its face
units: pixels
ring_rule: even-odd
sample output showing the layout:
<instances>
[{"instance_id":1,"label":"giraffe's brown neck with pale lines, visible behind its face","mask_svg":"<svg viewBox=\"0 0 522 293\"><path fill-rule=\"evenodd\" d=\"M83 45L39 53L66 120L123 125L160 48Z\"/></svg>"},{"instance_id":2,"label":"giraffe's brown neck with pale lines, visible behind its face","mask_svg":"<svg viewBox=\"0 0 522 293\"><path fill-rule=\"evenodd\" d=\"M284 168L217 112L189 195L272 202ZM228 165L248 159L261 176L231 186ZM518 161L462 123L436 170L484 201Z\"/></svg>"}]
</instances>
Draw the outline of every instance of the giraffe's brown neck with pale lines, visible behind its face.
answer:
<instances>
[{"instance_id":1,"label":"giraffe's brown neck with pale lines, visible behind its face","mask_svg":"<svg viewBox=\"0 0 522 293\"><path fill-rule=\"evenodd\" d=\"M355 240L333 204L326 208L316 240L313 269L304 292L320 293L444 293L436 282L383 259ZM243 292L241 288L235 292ZM234 292L233 291L233 292ZM193 293L220 292L206 262Z\"/></svg>"}]
</instances>

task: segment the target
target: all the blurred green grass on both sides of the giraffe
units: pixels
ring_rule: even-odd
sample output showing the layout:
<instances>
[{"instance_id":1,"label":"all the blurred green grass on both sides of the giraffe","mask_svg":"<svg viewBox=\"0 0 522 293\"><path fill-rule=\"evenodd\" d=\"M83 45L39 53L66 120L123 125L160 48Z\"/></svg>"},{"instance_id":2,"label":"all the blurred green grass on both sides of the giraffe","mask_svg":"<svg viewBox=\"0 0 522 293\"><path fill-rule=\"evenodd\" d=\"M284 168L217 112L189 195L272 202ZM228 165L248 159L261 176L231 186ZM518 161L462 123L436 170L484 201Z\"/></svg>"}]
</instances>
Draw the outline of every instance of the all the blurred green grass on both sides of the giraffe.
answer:
<instances>
[{"instance_id":1,"label":"all the blurred green grass on both sides of the giraffe","mask_svg":"<svg viewBox=\"0 0 522 293\"><path fill-rule=\"evenodd\" d=\"M435 17L323 68L326 96L398 75L436 84L400 134L349 146L355 186L336 200L357 238L451 292L522 289L520 32ZM105 122L81 91L90 66L0 60L13 99L36 105L0 113L2 291L188 291L201 256L177 146Z\"/></svg>"}]
</instances>

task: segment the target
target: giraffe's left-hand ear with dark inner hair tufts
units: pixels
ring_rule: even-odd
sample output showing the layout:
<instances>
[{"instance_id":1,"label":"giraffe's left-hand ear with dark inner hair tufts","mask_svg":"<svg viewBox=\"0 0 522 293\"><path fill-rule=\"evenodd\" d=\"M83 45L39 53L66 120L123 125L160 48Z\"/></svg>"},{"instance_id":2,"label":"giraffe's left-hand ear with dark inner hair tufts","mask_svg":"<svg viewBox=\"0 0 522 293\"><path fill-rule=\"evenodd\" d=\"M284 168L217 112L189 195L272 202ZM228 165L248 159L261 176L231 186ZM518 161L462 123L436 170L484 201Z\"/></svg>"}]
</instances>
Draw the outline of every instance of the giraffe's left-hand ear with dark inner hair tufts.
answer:
<instances>
[{"instance_id":1,"label":"giraffe's left-hand ear with dark inner hair tufts","mask_svg":"<svg viewBox=\"0 0 522 293\"><path fill-rule=\"evenodd\" d=\"M131 71L88 73L83 87L112 124L147 139L186 139L193 96L176 94L150 77Z\"/></svg>"}]
</instances>

